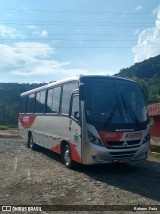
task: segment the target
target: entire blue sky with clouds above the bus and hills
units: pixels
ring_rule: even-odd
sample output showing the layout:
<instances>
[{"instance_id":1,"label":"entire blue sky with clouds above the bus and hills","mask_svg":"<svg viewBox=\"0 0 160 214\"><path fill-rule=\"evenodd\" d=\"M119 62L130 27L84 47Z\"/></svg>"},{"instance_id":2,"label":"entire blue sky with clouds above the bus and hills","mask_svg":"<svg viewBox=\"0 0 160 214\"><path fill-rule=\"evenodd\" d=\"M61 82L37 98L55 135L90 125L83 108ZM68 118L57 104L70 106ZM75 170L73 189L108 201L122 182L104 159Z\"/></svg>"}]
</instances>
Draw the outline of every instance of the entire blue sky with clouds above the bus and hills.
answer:
<instances>
[{"instance_id":1,"label":"entire blue sky with clouds above the bus and hills","mask_svg":"<svg viewBox=\"0 0 160 214\"><path fill-rule=\"evenodd\" d=\"M159 0L0 0L0 82L113 75L159 54Z\"/></svg>"}]
</instances>

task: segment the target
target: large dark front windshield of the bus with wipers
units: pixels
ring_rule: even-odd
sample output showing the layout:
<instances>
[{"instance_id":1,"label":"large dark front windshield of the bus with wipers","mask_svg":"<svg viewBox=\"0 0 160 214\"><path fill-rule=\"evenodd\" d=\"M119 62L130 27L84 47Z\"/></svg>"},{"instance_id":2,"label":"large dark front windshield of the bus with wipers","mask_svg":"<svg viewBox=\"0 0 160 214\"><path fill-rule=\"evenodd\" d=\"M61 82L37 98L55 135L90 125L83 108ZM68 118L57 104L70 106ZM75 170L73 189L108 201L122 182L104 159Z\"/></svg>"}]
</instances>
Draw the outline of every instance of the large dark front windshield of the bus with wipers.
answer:
<instances>
[{"instance_id":1,"label":"large dark front windshield of the bus with wipers","mask_svg":"<svg viewBox=\"0 0 160 214\"><path fill-rule=\"evenodd\" d=\"M107 124L135 124L147 120L139 86L131 81L106 78L85 81L86 117Z\"/></svg>"}]
</instances>

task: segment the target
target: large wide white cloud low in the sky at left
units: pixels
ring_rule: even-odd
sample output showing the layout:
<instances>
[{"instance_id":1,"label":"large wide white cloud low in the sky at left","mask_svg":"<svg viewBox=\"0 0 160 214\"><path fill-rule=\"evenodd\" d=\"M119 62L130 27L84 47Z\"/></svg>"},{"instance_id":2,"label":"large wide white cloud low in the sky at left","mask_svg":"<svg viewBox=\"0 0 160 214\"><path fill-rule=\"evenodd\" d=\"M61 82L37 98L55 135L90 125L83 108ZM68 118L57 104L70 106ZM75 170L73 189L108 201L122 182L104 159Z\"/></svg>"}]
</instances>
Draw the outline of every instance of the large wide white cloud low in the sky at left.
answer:
<instances>
[{"instance_id":1,"label":"large wide white cloud low in the sky at left","mask_svg":"<svg viewBox=\"0 0 160 214\"><path fill-rule=\"evenodd\" d=\"M52 59L55 49L48 44L20 42L12 46L0 44L0 72L15 76L46 76L61 74L77 76L89 74L86 69L69 69L71 62L58 62Z\"/></svg>"}]
</instances>

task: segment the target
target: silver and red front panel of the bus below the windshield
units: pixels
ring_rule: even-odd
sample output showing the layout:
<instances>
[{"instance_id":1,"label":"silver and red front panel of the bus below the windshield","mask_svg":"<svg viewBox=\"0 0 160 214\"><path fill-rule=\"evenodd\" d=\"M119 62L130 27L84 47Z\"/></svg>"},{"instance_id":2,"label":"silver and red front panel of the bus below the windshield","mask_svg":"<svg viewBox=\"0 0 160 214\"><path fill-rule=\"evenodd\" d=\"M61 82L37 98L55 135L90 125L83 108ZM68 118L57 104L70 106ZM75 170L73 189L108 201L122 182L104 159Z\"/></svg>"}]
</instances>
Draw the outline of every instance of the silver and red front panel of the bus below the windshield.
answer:
<instances>
[{"instance_id":1,"label":"silver and red front panel of the bus below the windshield","mask_svg":"<svg viewBox=\"0 0 160 214\"><path fill-rule=\"evenodd\" d=\"M84 164L98 164L98 163L112 163L112 162L129 162L145 160L148 157L149 139L143 144L145 137L150 131L150 125L146 130L136 132L108 132L97 131L94 126L87 124L87 129L92 131L102 141L108 140L112 142L112 146L100 147L91 143L88 139L87 132L83 133L83 163ZM99 133L103 133L103 137ZM121 136L121 137L120 137ZM114 146L117 143L117 138L121 146ZM121 143L122 142L122 143ZM136 142L136 144L135 144Z\"/></svg>"}]
</instances>

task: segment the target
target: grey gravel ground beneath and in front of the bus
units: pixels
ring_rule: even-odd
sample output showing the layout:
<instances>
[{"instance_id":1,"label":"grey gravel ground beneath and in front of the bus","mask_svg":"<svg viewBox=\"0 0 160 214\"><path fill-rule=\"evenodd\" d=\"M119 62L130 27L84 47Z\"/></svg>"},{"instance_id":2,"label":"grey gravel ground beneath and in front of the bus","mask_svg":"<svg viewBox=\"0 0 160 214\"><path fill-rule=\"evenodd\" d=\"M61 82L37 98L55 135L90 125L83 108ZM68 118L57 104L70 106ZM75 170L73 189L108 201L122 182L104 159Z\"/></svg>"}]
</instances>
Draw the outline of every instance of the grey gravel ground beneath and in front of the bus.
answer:
<instances>
[{"instance_id":1,"label":"grey gravel ground beneath and in front of the bus","mask_svg":"<svg viewBox=\"0 0 160 214\"><path fill-rule=\"evenodd\" d=\"M0 204L160 205L160 159L69 170L53 152L32 151L20 138L0 138Z\"/></svg>"}]
</instances>

